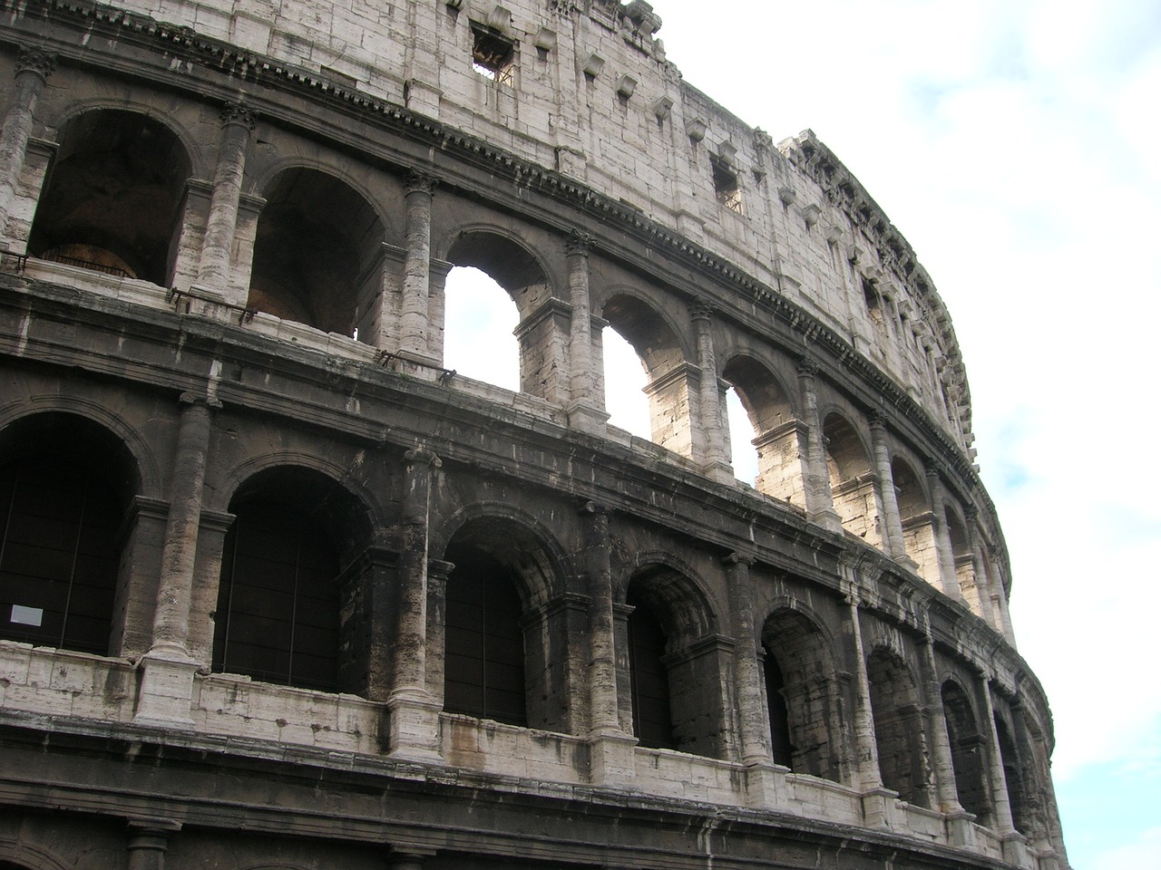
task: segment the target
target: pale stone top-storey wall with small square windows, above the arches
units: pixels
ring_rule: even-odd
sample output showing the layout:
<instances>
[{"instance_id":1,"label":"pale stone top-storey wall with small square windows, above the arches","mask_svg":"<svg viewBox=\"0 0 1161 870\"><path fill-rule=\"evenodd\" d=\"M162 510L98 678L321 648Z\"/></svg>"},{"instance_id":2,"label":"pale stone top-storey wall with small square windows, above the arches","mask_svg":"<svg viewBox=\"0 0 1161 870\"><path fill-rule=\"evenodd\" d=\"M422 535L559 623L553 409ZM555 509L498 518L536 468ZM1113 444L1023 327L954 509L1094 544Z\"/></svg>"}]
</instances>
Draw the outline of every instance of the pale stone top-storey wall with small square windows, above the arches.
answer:
<instances>
[{"instance_id":1,"label":"pale stone top-storey wall with small square windows, above the arches","mask_svg":"<svg viewBox=\"0 0 1161 870\"><path fill-rule=\"evenodd\" d=\"M907 240L813 132L776 146L685 84L643 0L118 6L406 107L640 210L817 317L973 456L951 320Z\"/></svg>"}]
</instances>

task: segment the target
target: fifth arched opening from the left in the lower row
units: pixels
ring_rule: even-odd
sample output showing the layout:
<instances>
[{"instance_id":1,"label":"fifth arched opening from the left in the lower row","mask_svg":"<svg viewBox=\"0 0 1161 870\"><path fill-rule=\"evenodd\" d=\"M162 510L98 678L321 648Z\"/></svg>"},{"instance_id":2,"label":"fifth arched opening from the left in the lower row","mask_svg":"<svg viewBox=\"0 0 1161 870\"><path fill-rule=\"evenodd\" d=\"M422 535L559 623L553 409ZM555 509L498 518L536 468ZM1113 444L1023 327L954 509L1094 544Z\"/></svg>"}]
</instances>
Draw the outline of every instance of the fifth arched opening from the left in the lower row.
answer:
<instances>
[{"instance_id":1,"label":"fifth arched opening from the left in the lower row","mask_svg":"<svg viewBox=\"0 0 1161 870\"><path fill-rule=\"evenodd\" d=\"M783 608L762 629L774 762L841 780L842 712L830 647L803 614Z\"/></svg>"}]
</instances>

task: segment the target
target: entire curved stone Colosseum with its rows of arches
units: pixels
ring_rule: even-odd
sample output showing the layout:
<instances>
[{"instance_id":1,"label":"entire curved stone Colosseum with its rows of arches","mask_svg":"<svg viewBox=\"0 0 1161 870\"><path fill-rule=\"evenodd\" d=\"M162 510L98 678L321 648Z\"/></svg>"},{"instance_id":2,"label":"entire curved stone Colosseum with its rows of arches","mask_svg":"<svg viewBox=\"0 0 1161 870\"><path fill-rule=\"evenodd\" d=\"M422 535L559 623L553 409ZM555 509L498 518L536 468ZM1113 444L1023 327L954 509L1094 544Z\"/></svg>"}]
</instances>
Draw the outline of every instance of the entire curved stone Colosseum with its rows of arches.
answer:
<instances>
[{"instance_id":1,"label":"entire curved stone Colosseum with its rows of arches","mask_svg":"<svg viewBox=\"0 0 1161 870\"><path fill-rule=\"evenodd\" d=\"M0 870L1063 870L915 252L503 1L0 3Z\"/></svg>"}]
</instances>

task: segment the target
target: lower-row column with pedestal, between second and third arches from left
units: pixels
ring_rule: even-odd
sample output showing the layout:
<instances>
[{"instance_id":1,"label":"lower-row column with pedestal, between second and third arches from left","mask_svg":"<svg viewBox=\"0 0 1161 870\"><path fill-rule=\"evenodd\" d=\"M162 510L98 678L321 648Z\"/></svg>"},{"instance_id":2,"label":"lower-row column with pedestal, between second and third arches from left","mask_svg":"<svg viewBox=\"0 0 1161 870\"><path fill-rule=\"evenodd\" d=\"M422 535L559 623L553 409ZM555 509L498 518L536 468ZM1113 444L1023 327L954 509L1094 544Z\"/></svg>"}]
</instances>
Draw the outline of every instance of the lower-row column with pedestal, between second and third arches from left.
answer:
<instances>
[{"instance_id":1,"label":"lower-row column with pedestal, between second and third arches from left","mask_svg":"<svg viewBox=\"0 0 1161 870\"><path fill-rule=\"evenodd\" d=\"M440 704L427 691L427 535L431 478L441 463L424 448L404 456L395 675L387 702L389 746L394 757L431 760L438 757Z\"/></svg>"}]
</instances>

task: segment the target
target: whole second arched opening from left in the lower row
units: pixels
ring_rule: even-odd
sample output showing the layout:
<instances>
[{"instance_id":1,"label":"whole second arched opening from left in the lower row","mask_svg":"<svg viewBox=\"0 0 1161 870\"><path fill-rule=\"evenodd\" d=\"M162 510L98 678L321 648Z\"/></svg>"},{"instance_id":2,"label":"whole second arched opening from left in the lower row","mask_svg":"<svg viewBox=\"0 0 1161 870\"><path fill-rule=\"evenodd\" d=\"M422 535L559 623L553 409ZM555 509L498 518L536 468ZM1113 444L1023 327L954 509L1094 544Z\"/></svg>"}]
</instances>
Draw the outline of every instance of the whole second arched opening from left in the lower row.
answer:
<instances>
[{"instance_id":1,"label":"whole second arched opening from left in the lower row","mask_svg":"<svg viewBox=\"0 0 1161 870\"><path fill-rule=\"evenodd\" d=\"M369 541L362 506L320 472L259 472L230 501L217 609L215 672L319 691L363 691L340 650L349 597L345 565Z\"/></svg>"}]
</instances>

